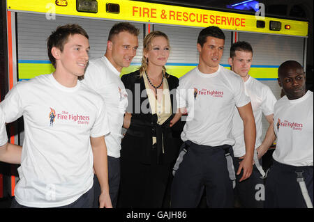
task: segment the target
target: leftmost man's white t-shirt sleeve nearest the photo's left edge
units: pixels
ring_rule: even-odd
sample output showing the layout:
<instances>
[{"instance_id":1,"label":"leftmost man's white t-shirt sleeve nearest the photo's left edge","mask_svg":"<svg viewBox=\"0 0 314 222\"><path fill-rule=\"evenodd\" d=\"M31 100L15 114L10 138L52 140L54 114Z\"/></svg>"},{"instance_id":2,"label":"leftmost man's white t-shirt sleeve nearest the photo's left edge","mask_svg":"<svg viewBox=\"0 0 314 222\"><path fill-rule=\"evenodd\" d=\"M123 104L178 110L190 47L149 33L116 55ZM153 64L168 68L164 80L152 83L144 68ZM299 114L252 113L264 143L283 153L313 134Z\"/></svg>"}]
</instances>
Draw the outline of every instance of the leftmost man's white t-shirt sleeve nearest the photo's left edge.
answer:
<instances>
[{"instance_id":1,"label":"leftmost man's white t-shirt sleeve nearest the photo's left edge","mask_svg":"<svg viewBox=\"0 0 314 222\"><path fill-rule=\"evenodd\" d=\"M1 109L6 117L5 122L13 122L23 115L23 105L21 94L18 90L20 84L17 83L0 103Z\"/></svg>"}]
</instances>

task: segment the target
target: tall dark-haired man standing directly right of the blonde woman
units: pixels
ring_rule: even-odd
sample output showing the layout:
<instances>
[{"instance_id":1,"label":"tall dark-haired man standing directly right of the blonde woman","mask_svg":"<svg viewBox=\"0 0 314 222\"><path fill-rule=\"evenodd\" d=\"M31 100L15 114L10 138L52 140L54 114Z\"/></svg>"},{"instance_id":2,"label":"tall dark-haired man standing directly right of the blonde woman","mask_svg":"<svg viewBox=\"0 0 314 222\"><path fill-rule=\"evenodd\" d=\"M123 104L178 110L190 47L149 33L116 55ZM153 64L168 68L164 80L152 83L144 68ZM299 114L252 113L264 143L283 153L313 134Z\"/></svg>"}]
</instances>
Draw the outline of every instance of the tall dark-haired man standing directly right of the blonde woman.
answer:
<instances>
[{"instance_id":1,"label":"tall dark-haired man standing directly right of the blonde woman","mask_svg":"<svg viewBox=\"0 0 314 222\"><path fill-rule=\"evenodd\" d=\"M243 170L242 181L252 173L255 122L251 102L241 77L219 65L224 44L225 35L218 27L202 29L197 39L200 63L179 81L179 113L187 109L188 117L181 134L185 145L174 166L172 207L197 207L204 189L208 207L233 207L234 106L244 122L246 141L246 157L237 174Z\"/></svg>"}]
</instances>

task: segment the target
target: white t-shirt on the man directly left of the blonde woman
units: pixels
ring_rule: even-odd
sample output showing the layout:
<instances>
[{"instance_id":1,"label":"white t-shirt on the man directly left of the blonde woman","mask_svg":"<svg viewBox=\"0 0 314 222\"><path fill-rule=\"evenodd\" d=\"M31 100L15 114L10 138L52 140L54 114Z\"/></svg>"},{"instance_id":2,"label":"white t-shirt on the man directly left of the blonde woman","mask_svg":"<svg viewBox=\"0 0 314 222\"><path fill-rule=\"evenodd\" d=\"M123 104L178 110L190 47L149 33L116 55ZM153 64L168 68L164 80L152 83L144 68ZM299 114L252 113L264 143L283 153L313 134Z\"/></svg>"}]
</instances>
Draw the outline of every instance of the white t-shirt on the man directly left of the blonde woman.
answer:
<instances>
[{"instance_id":1,"label":"white t-shirt on the man directly left of the blonde woman","mask_svg":"<svg viewBox=\"0 0 314 222\"><path fill-rule=\"evenodd\" d=\"M89 61L83 82L99 93L105 101L110 126L110 134L105 137L107 154L119 158L121 129L128 106L128 94L120 79L120 72L103 56Z\"/></svg>"}]
</instances>

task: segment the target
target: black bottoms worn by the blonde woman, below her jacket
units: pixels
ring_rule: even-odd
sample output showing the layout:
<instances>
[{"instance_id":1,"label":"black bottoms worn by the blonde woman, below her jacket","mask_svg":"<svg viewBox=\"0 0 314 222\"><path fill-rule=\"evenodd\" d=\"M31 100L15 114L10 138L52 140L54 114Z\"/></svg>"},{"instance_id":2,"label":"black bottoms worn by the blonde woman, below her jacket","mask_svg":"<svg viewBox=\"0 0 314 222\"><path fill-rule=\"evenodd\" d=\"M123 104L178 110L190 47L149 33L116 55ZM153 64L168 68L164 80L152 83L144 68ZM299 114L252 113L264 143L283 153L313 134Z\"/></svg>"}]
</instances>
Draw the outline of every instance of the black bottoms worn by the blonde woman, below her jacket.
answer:
<instances>
[{"instance_id":1,"label":"black bottoms worn by the blonde woman, below her jacket","mask_svg":"<svg viewBox=\"0 0 314 222\"><path fill-rule=\"evenodd\" d=\"M121 158L119 208L163 206L170 164L142 164Z\"/></svg>"}]
</instances>

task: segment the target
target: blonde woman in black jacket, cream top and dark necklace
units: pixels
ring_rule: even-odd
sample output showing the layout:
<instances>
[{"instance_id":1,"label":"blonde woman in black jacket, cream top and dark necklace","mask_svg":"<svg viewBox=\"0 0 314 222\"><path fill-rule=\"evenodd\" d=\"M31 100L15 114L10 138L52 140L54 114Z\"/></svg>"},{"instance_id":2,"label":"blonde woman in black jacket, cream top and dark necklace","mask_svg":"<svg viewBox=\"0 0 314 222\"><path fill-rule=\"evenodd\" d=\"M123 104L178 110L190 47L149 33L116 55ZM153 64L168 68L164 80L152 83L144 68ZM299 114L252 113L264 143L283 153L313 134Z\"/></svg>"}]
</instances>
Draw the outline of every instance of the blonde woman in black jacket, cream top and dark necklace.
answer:
<instances>
[{"instance_id":1,"label":"blonde woman in black jacket, cream top and dark necklace","mask_svg":"<svg viewBox=\"0 0 314 222\"><path fill-rule=\"evenodd\" d=\"M121 77L128 91L121 142L121 184L118 207L163 207L170 171L181 144L181 122L170 127L179 79L167 74L170 44L165 33L144 39L140 70Z\"/></svg>"}]
</instances>

